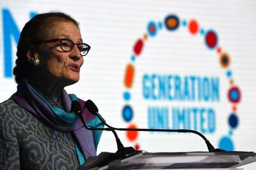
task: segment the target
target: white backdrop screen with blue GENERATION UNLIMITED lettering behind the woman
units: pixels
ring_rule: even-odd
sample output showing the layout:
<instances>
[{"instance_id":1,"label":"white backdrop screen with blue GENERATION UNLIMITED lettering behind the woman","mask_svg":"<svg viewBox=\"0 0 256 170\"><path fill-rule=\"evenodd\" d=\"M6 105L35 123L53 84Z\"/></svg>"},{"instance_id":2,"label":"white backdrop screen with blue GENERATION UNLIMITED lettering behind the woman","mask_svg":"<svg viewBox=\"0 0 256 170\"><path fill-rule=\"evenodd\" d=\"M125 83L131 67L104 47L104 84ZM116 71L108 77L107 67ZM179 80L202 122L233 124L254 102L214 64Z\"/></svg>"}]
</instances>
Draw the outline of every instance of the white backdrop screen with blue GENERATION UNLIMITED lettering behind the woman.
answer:
<instances>
[{"instance_id":1,"label":"white backdrop screen with blue GENERATION UNLIMITED lettering behind the woman","mask_svg":"<svg viewBox=\"0 0 256 170\"><path fill-rule=\"evenodd\" d=\"M79 21L84 42L92 46L84 58L80 81L66 90L93 100L110 125L191 128L202 132L216 148L256 151L255 9L253 0L2 0L0 101L16 90L13 76L6 73L14 65L17 33L31 13L60 11ZM230 61L227 68L220 61L225 52ZM13 65L8 65L9 61ZM135 71L125 86L128 64ZM123 112L125 105L132 114L129 109ZM118 135L125 146L140 150L207 150L204 141L193 134ZM100 151L116 151L110 132L103 133Z\"/></svg>"}]
</instances>

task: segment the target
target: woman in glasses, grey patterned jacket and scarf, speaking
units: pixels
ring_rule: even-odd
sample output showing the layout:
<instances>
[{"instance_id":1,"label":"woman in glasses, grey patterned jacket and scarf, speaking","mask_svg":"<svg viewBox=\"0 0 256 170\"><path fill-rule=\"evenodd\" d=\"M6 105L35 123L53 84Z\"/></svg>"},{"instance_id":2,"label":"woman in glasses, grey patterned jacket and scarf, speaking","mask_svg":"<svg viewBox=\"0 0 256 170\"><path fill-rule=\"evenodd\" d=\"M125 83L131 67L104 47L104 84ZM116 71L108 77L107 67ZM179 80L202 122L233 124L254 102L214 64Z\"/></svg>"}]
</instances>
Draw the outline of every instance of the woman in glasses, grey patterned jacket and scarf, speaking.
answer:
<instances>
[{"instance_id":1,"label":"woman in glasses, grey patterned jacket and scarf, speaking","mask_svg":"<svg viewBox=\"0 0 256 170\"><path fill-rule=\"evenodd\" d=\"M0 169L77 169L96 155L101 131L86 130L72 111L65 86L79 81L90 46L76 20L65 13L43 13L20 33L17 92L0 104ZM102 127L86 108L83 118Z\"/></svg>"}]
</instances>

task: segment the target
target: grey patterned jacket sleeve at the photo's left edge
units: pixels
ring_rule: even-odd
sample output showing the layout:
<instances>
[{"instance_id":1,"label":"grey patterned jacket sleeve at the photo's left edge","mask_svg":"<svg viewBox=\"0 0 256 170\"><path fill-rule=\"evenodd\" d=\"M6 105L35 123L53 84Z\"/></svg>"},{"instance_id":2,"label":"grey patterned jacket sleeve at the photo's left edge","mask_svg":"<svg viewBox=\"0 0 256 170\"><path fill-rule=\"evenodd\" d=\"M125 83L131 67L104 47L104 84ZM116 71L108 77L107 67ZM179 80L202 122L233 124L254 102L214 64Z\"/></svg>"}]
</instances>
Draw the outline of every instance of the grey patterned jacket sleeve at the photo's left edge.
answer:
<instances>
[{"instance_id":1,"label":"grey patterned jacket sleeve at the photo's left edge","mask_svg":"<svg viewBox=\"0 0 256 170\"><path fill-rule=\"evenodd\" d=\"M0 169L20 169L19 143L12 118L0 107Z\"/></svg>"}]
</instances>

